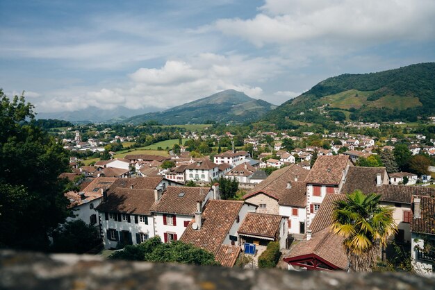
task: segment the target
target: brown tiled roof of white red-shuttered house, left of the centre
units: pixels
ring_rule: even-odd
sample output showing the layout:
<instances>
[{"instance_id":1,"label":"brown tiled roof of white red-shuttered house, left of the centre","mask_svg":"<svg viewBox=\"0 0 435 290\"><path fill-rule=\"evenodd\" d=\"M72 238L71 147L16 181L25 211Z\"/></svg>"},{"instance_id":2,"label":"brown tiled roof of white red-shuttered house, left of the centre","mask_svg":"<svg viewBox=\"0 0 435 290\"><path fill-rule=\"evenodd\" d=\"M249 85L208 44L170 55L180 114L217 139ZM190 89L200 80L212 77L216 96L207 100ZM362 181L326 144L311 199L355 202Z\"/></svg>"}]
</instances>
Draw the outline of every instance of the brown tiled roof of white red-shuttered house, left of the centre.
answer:
<instances>
[{"instance_id":1,"label":"brown tiled roof of white red-shuttered house, left of the centre","mask_svg":"<svg viewBox=\"0 0 435 290\"><path fill-rule=\"evenodd\" d=\"M208 191L208 187L167 187L160 200L151 207L151 212L193 216L197 211L197 201L204 201Z\"/></svg>"}]
</instances>

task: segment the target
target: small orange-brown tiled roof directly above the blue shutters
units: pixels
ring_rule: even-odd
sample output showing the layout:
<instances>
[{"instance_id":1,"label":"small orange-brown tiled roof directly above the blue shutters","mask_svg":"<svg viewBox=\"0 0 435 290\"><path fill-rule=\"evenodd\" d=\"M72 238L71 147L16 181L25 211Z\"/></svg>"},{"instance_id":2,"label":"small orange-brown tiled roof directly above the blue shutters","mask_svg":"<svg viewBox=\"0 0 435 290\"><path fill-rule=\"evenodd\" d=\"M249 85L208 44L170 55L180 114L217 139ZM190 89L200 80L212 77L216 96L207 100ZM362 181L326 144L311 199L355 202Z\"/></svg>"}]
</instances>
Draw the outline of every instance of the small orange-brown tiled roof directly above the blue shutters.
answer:
<instances>
[{"instance_id":1,"label":"small orange-brown tiled roof directly above the blue shutters","mask_svg":"<svg viewBox=\"0 0 435 290\"><path fill-rule=\"evenodd\" d=\"M248 212L237 232L239 234L274 238L279 233L279 223L281 223L282 218L283 216L277 214Z\"/></svg>"}]
</instances>

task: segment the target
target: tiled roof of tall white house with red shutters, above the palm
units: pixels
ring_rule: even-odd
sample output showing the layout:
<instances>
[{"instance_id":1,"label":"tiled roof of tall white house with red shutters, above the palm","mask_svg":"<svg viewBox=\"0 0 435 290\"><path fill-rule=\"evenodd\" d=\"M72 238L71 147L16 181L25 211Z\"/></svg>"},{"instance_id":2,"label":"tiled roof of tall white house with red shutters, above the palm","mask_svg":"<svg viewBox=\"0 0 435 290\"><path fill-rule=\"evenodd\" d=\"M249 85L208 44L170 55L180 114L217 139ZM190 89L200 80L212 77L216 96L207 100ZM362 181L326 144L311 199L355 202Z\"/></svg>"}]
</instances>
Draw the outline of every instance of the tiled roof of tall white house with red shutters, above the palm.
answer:
<instances>
[{"instance_id":1,"label":"tiled roof of tall white house with red shutters, above the palm","mask_svg":"<svg viewBox=\"0 0 435 290\"><path fill-rule=\"evenodd\" d=\"M343 177L343 171L349 164L348 156L321 155L315 160L305 181L318 185L338 185Z\"/></svg>"}]
</instances>

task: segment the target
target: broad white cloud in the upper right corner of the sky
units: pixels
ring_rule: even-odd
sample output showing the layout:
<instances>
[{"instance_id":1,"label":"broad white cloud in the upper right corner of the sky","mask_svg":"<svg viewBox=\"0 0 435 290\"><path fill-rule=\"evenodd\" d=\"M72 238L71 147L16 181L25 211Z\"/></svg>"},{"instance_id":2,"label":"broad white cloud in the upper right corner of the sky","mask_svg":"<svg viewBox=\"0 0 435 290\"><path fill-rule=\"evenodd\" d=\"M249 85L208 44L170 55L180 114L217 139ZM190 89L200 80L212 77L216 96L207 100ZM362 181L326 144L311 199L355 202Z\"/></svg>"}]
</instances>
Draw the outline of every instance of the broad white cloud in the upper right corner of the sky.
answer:
<instances>
[{"instance_id":1,"label":"broad white cloud in the upper right corner of the sky","mask_svg":"<svg viewBox=\"0 0 435 290\"><path fill-rule=\"evenodd\" d=\"M431 0L268 0L252 19L220 19L215 28L256 46L325 42L379 44L434 40Z\"/></svg>"}]
</instances>

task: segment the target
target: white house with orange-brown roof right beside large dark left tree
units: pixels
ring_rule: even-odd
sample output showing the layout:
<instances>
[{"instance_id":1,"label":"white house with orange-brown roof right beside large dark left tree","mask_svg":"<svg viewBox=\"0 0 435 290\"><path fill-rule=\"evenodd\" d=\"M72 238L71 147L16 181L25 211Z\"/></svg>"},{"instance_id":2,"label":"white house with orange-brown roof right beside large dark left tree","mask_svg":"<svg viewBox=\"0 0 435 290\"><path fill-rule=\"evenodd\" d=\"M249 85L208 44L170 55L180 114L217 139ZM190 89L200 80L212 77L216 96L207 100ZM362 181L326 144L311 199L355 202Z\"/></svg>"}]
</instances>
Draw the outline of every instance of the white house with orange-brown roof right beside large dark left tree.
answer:
<instances>
[{"instance_id":1,"label":"white house with orange-brown roof right beside large dark left tree","mask_svg":"<svg viewBox=\"0 0 435 290\"><path fill-rule=\"evenodd\" d=\"M99 228L100 221L96 207L101 203L103 191L108 189L117 178L93 178L92 182L79 192L69 191L65 193L69 200L68 208L72 210L73 216L69 216L67 221L81 219L85 223L90 223Z\"/></svg>"}]
</instances>

